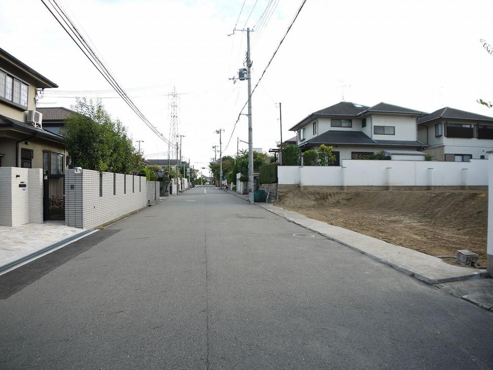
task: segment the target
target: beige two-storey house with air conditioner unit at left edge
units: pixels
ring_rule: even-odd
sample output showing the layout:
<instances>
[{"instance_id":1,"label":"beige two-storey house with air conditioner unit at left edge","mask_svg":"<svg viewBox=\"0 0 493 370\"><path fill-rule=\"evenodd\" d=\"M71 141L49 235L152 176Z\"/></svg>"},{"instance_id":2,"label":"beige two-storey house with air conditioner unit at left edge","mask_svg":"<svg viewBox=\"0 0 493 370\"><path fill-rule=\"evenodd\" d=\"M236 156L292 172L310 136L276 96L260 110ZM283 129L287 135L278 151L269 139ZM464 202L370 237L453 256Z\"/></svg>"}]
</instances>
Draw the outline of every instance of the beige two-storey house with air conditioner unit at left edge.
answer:
<instances>
[{"instance_id":1,"label":"beige two-storey house with air conditioner unit at left edge","mask_svg":"<svg viewBox=\"0 0 493 370\"><path fill-rule=\"evenodd\" d=\"M0 166L64 173L63 138L43 129L42 114L36 111L38 91L54 87L58 85L0 49Z\"/></svg>"}]
</instances>

